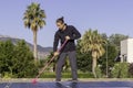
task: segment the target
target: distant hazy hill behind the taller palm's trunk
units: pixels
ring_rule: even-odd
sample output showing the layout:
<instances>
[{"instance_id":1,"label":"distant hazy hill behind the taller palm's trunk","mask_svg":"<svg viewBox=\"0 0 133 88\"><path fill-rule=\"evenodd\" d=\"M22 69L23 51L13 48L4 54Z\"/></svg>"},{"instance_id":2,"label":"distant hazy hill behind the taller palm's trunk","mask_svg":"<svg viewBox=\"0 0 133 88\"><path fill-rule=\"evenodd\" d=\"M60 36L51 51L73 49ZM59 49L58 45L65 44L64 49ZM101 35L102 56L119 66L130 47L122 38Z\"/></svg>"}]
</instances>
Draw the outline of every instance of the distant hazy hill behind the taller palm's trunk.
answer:
<instances>
[{"instance_id":1,"label":"distant hazy hill behind the taller palm's trunk","mask_svg":"<svg viewBox=\"0 0 133 88\"><path fill-rule=\"evenodd\" d=\"M16 37L11 37L11 36L0 35L0 41L8 41L8 40L10 40L13 44L17 44L17 42L21 41L22 38L16 38ZM25 43L28 44L30 50L33 51L33 45L27 41L25 41ZM42 47L41 45L38 45L39 58L45 57L47 55L50 54L51 51L52 51L52 47Z\"/></svg>"}]
</instances>

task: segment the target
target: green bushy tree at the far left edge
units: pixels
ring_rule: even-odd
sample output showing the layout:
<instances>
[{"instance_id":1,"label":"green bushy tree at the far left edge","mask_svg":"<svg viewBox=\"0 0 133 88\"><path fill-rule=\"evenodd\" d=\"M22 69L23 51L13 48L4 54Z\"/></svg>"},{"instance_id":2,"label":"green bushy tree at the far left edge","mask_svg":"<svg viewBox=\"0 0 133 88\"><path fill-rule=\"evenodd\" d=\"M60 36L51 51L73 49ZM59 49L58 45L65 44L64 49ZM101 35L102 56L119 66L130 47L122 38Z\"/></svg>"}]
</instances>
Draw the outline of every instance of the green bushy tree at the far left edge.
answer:
<instances>
[{"instance_id":1,"label":"green bushy tree at the far left edge","mask_svg":"<svg viewBox=\"0 0 133 88\"><path fill-rule=\"evenodd\" d=\"M14 54L13 51L14 45L11 43L11 41L0 42L0 74L2 74L2 76L6 73L10 75L13 74L12 72L13 63L11 63Z\"/></svg>"}]
</instances>

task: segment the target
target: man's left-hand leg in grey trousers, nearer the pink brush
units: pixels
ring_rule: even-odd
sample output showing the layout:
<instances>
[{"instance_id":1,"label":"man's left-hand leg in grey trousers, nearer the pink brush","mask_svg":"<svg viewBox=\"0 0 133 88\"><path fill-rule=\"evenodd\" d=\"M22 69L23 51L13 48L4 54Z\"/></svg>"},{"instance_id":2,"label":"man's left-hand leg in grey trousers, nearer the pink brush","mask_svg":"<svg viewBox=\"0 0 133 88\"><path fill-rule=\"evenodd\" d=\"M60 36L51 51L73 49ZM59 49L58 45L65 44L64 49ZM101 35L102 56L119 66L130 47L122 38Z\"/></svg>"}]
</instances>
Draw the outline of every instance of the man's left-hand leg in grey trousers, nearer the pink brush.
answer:
<instances>
[{"instance_id":1,"label":"man's left-hand leg in grey trousers, nearer the pink brush","mask_svg":"<svg viewBox=\"0 0 133 88\"><path fill-rule=\"evenodd\" d=\"M65 56L66 56L66 53L61 53L59 56L57 67L55 67L57 81L61 80L61 72L62 72L62 66L65 63Z\"/></svg>"}]
</instances>

